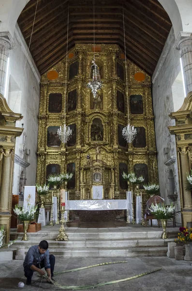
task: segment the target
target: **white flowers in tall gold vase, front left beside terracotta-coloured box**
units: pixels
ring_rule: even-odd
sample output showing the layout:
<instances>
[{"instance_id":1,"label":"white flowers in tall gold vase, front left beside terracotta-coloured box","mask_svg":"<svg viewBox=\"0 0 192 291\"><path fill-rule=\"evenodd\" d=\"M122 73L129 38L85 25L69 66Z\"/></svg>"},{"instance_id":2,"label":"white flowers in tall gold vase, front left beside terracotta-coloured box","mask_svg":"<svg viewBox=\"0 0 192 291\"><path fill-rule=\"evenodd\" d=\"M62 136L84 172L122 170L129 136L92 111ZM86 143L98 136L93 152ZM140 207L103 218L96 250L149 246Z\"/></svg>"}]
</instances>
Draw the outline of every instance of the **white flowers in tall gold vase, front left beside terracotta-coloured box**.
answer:
<instances>
[{"instance_id":1,"label":"white flowers in tall gold vase, front left beside terracotta-coloured box","mask_svg":"<svg viewBox=\"0 0 192 291\"><path fill-rule=\"evenodd\" d=\"M31 208L21 208L15 205L14 212L18 216L19 221L23 223L24 235L22 241L28 241L27 230L31 221L34 220L34 215L37 210L37 206Z\"/></svg>"}]
</instances>

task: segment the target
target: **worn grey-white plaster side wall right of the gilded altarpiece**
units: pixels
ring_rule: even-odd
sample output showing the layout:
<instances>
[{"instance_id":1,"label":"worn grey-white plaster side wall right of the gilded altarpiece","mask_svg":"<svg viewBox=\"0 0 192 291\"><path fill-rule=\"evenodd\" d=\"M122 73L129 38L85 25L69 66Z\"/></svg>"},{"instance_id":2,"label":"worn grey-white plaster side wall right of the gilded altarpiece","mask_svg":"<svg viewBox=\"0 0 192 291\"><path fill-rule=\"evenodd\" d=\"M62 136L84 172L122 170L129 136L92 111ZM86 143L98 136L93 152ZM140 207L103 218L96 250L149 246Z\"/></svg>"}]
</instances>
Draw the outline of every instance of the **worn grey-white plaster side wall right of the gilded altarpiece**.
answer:
<instances>
[{"instance_id":1,"label":"worn grey-white plaster side wall right of the gilded altarpiece","mask_svg":"<svg viewBox=\"0 0 192 291\"><path fill-rule=\"evenodd\" d=\"M175 190L178 194L177 208L180 209L176 140L168 130L169 126L175 125L175 120L171 120L169 114L174 112L172 85L180 71L180 53L174 48L174 44L175 35L172 28L152 76L152 97L160 193L165 199L165 203L170 204L168 195L171 194L170 171L172 170ZM183 95L181 98L184 100Z\"/></svg>"}]
</instances>

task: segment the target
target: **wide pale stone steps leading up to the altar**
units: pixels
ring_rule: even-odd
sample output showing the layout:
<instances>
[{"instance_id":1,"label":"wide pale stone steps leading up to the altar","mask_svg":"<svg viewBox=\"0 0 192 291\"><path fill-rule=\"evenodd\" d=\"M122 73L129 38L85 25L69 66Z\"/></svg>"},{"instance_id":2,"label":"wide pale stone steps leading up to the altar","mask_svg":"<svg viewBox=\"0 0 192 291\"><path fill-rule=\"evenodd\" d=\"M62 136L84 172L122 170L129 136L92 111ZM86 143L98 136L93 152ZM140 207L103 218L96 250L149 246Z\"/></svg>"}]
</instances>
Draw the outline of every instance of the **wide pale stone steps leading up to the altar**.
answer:
<instances>
[{"instance_id":1,"label":"wide pale stone steps leading up to the altar","mask_svg":"<svg viewBox=\"0 0 192 291\"><path fill-rule=\"evenodd\" d=\"M47 240L49 250L58 258L76 257L148 257L166 256L167 243L174 242L178 227L168 223L169 239L162 240L162 228L127 225L114 228L65 227L68 241L56 242L59 225L44 226L41 231L28 233L29 241L21 241L23 233L11 229L11 239L18 239L11 248L24 247Z\"/></svg>"}]
</instances>

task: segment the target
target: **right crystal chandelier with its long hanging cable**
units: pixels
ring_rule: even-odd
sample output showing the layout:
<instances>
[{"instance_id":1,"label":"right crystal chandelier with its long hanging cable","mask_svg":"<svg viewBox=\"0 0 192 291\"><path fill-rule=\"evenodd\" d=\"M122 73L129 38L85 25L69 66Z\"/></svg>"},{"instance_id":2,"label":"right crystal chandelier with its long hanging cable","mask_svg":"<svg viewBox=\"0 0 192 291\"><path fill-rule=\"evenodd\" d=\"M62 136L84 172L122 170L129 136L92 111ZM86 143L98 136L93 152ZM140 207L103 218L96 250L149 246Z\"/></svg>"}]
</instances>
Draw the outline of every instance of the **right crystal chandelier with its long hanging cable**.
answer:
<instances>
[{"instance_id":1,"label":"right crystal chandelier with its long hanging cable","mask_svg":"<svg viewBox=\"0 0 192 291\"><path fill-rule=\"evenodd\" d=\"M125 138L127 143L131 144L133 139L137 134L137 130L134 126L130 125L129 117L129 97L128 97L128 81L127 81L127 61L126 61L126 45L125 45L125 22L124 22L124 7L123 7L123 31L124 31L124 47L125 47L125 75L126 75L126 96L127 96L127 115L128 115L128 125L123 129L122 136Z\"/></svg>"}]
</instances>

